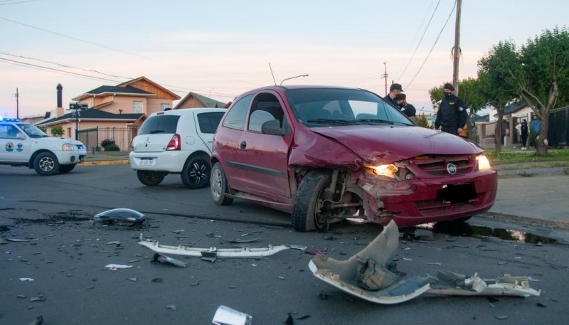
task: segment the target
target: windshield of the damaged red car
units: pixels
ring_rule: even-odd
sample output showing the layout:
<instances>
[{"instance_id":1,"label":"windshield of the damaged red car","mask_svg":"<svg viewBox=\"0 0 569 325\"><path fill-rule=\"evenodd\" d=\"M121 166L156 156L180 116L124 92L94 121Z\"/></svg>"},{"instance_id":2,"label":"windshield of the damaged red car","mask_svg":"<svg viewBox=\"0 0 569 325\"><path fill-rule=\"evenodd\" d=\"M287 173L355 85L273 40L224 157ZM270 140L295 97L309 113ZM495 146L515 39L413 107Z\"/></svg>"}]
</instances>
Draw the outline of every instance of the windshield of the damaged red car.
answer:
<instances>
[{"instance_id":1,"label":"windshield of the damaged red car","mask_svg":"<svg viewBox=\"0 0 569 325\"><path fill-rule=\"evenodd\" d=\"M304 88L286 92L297 120L307 127L331 125L415 125L381 97L366 90Z\"/></svg>"}]
</instances>

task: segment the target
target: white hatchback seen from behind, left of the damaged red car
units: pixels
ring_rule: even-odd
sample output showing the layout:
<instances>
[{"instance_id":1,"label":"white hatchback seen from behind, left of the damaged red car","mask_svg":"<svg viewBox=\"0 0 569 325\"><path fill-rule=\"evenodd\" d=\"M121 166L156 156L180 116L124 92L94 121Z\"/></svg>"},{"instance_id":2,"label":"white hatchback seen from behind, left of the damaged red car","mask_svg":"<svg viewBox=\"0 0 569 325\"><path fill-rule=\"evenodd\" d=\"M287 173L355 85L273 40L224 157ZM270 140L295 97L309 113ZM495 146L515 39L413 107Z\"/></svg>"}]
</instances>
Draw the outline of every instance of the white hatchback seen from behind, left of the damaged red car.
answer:
<instances>
[{"instance_id":1,"label":"white hatchback seen from behind, left of the damaged red car","mask_svg":"<svg viewBox=\"0 0 569 325\"><path fill-rule=\"evenodd\" d=\"M138 179L155 186L168 174L180 174L184 185L203 188L211 174L213 134L223 108L185 108L151 114L132 139L129 162Z\"/></svg>"}]
</instances>

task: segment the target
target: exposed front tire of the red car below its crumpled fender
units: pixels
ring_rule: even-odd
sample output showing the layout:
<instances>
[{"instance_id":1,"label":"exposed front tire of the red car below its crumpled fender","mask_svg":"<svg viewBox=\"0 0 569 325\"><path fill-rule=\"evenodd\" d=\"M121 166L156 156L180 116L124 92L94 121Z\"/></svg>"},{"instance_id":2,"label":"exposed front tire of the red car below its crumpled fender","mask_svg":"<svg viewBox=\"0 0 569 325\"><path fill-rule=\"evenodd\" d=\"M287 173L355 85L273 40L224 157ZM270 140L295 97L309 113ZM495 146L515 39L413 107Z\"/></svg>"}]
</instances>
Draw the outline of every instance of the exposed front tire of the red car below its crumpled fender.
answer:
<instances>
[{"instance_id":1,"label":"exposed front tire of the red car below its crumpled fender","mask_svg":"<svg viewBox=\"0 0 569 325\"><path fill-rule=\"evenodd\" d=\"M304 176L297 189L292 206L292 228L306 232L327 230L326 211L322 208L324 188L330 184L330 175L311 171Z\"/></svg>"}]
</instances>

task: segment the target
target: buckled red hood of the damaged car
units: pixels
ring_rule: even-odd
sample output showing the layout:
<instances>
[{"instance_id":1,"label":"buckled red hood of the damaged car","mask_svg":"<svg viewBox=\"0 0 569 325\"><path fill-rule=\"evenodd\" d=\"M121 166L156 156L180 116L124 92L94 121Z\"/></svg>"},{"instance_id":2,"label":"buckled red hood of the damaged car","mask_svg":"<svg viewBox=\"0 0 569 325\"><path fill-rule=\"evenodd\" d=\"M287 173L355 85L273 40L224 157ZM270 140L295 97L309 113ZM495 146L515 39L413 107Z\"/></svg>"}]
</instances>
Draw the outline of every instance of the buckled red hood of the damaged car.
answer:
<instances>
[{"instance_id":1,"label":"buckled red hood of the damaged car","mask_svg":"<svg viewBox=\"0 0 569 325\"><path fill-rule=\"evenodd\" d=\"M477 154L479 146L425 127L315 127L312 132L343 144L368 162L394 162L422 154Z\"/></svg>"}]
</instances>

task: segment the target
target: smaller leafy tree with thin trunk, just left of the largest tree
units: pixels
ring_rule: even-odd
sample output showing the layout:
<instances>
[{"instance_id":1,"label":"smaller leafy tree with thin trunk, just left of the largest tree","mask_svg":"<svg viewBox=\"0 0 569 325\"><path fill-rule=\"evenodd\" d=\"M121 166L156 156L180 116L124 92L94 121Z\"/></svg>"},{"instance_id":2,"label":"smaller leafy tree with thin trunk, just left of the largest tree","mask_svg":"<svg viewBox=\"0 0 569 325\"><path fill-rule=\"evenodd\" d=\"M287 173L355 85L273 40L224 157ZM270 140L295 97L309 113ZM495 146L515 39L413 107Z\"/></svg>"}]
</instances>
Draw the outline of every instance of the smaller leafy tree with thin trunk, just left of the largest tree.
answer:
<instances>
[{"instance_id":1,"label":"smaller leafy tree with thin trunk, just left of the largest tree","mask_svg":"<svg viewBox=\"0 0 569 325\"><path fill-rule=\"evenodd\" d=\"M504 108L519 92L514 86L514 74L521 66L520 58L516 52L516 45L512 42L500 42L491 48L482 59L478 61L479 90L488 105L496 108L498 122L494 129L494 146L496 152L501 152L501 134L503 134Z\"/></svg>"}]
</instances>

